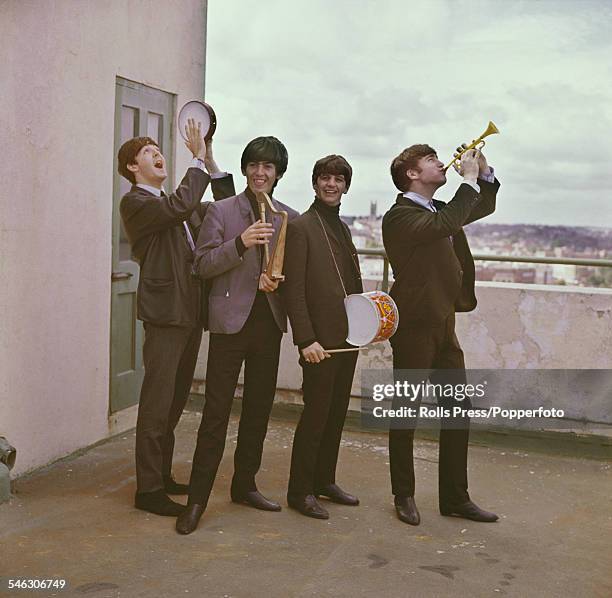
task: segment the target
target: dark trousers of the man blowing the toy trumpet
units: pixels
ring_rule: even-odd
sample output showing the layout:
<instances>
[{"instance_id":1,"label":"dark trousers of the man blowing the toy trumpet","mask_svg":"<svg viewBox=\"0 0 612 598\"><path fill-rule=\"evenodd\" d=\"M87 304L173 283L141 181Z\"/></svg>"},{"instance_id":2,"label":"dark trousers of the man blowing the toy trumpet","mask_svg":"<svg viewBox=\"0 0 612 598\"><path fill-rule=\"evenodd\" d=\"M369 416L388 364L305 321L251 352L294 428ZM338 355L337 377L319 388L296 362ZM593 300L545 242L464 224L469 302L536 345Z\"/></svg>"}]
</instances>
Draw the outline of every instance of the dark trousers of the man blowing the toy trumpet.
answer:
<instances>
[{"instance_id":1,"label":"dark trousers of the man blowing the toy trumpet","mask_svg":"<svg viewBox=\"0 0 612 598\"><path fill-rule=\"evenodd\" d=\"M401 328L391 337L394 370L420 369L434 371L429 381L465 384L463 351L455 334L455 314L439 326ZM444 372L443 370L454 370ZM438 371L436 371L438 370ZM418 383L416 374L406 372L410 382ZM398 376L396 372L396 377ZM460 404L471 406L469 399L458 403L453 397L437 397L438 405L452 409ZM420 400L410 403L419 408ZM441 507L455 506L469 500L467 483L467 450L469 419L441 419L438 458L438 491ZM414 496L414 427L389 430L389 462L391 487L396 496Z\"/></svg>"}]
</instances>

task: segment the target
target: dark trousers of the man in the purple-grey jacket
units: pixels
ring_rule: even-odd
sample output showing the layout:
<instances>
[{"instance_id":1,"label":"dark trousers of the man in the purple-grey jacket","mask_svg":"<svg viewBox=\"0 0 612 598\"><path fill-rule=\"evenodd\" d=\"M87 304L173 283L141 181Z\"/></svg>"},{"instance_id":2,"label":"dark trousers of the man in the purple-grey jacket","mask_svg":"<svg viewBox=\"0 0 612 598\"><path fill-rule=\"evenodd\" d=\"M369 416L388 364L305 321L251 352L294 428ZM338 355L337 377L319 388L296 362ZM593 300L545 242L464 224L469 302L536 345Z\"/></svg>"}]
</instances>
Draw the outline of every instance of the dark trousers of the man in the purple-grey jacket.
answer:
<instances>
[{"instance_id":1,"label":"dark trousers of the man in the purple-grey jacket","mask_svg":"<svg viewBox=\"0 0 612 598\"><path fill-rule=\"evenodd\" d=\"M270 309L251 311L236 334L211 334L206 393L198 442L193 457L189 502L206 504L225 448L227 425L242 362L244 393L234 453L232 492L256 490L263 443L278 374L279 330Z\"/></svg>"}]
</instances>

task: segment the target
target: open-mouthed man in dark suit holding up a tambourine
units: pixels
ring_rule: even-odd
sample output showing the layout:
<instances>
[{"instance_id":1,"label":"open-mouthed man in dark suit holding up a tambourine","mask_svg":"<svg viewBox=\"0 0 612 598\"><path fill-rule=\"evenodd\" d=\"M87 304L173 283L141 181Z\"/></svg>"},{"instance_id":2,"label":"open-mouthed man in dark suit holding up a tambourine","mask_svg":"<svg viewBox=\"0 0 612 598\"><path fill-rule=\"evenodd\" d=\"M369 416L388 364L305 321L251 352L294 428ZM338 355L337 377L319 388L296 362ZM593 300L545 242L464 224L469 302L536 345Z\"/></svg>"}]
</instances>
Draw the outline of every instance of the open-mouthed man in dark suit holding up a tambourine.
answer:
<instances>
[{"instance_id":1,"label":"open-mouthed man in dark suit holding up a tambourine","mask_svg":"<svg viewBox=\"0 0 612 598\"><path fill-rule=\"evenodd\" d=\"M144 322L145 375L136 424L135 506L176 516L182 505L168 494L186 494L172 478L174 428L189 396L202 326L202 283L193 274L193 237L210 202L200 203L213 176L216 199L234 193L231 176L218 176L212 151L191 122L187 147L192 166L177 190L167 196L162 183L166 163L150 137L126 141L119 150L119 173L133 187L122 198L121 218L140 264L138 318ZM221 173L219 173L221 174Z\"/></svg>"}]
</instances>

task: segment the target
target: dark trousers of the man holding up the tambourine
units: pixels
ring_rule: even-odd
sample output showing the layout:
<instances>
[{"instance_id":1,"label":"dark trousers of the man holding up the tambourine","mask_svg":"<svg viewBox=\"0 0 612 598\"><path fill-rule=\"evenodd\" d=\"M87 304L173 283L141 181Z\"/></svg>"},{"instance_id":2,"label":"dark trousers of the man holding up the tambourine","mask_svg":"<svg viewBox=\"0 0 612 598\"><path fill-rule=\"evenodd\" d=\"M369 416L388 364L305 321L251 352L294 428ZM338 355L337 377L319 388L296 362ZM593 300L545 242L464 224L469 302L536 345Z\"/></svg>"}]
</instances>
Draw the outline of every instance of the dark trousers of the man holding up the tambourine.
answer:
<instances>
[{"instance_id":1,"label":"dark trousers of the man holding up the tambourine","mask_svg":"<svg viewBox=\"0 0 612 598\"><path fill-rule=\"evenodd\" d=\"M164 487L172 470L174 428L189 397L202 328L144 324L144 380L136 422L138 492Z\"/></svg>"}]
</instances>

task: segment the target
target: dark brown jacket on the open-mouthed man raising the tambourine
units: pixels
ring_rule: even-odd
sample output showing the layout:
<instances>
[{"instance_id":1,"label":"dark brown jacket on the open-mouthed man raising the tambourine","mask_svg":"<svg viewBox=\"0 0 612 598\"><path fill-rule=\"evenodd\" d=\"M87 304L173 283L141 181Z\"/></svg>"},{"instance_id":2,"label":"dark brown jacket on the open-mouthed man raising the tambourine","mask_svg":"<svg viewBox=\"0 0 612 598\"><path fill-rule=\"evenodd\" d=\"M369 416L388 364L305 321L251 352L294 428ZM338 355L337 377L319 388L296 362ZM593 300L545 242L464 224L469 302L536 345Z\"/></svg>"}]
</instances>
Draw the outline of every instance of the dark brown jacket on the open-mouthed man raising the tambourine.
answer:
<instances>
[{"instance_id":1,"label":"dark brown jacket on the open-mouthed man raising the tambourine","mask_svg":"<svg viewBox=\"0 0 612 598\"><path fill-rule=\"evenodd\" d=\"M121 199L119 211L135 259L140 264L138 319L157 326L204 324L202 282L192 273L193 252L183 222L197 238L211 202L200 203L209 176L189 168L176 191L157 197L134 185ZM231 175L213 179L213 196L234 193Z\"/></svg>"}]
</instances>

